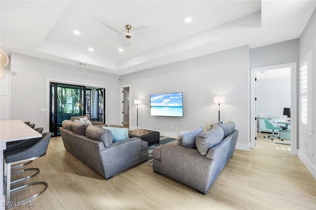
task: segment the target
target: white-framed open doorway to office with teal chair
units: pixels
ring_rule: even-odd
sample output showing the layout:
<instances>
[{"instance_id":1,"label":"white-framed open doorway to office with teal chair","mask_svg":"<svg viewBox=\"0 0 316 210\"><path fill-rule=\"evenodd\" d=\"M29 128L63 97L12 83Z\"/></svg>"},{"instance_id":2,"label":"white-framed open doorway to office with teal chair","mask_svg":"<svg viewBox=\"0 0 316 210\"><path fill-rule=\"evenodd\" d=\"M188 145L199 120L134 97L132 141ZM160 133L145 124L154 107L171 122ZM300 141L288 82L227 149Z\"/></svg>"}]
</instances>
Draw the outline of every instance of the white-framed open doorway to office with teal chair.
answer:
<instances>
[{"instance_id":1,"label":"white-framed open doorway to office with teal chair","mask_svg":"<svg viewBox=\"0 0 316 210\"><path fill-rule=\"evenodd\" d=\"M270 118L275 121L275 126L290 124L289 135L290 150L292 155L297 155L297 83L296 63L288 63L251 69L250 76L250 146L256 148L257 131L264 131L263 118ZM278 82L278 83L276 83ZM290 83L289 85L285 85ZM282 85L284 87L282 87ZM285 86L290 90L284 90ZM258 96L260 98L257 98ZM287 115L283 115L284 108L291 109L290 122ZM285 112L284 112L285 113ZM272 120L274 119L274 120ZM284 121L284 122L283 122ZM283 123L282 123L283 122ZM287 130L289 131L289 130ZM258 133L259 134L259 133ZM260 134L260 137L263 137ZM267 138L266 140L270 140ZM274 142L282 142L275 138Z\"/></svg>"}]
</instances>

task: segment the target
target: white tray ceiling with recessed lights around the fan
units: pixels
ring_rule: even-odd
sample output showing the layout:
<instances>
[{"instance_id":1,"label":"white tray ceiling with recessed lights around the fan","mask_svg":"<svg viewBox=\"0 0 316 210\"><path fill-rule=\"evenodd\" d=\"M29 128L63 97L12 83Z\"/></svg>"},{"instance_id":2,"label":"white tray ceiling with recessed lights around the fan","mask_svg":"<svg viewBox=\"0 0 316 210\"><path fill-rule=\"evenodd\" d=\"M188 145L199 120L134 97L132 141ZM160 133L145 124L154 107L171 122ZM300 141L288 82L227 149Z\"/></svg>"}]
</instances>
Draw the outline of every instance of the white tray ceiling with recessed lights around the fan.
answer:
<instances>
[{"instance_id":1,"label":"white tray ceiling with recessed lights around the fan","mask_svg":"<svg viewBox=\"0 0 316 210\"><path fill-rule=\"evenodd\" d=\"M1 0L0 47L8 55L122 75L245 44L298 38L315 7L315 0ZM127 38L102 22L122 32L127 24L131 33L150 31L126 46Z\"/></svg>"}]
</instances>

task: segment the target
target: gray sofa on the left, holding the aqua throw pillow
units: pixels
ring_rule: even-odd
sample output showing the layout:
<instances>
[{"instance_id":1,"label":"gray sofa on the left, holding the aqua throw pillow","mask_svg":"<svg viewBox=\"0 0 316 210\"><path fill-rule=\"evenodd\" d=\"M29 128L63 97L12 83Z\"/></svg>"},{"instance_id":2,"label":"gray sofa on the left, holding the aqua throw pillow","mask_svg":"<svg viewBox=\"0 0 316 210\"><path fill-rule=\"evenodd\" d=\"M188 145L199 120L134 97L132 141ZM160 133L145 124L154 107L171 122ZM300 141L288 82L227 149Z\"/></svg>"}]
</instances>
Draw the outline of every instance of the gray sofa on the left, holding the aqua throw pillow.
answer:
<instances>
[{"instance_id":1,"label":"gray sofa on the left, holding the aqua throw pillow","mask_svg":"<svg viewBox=\"0 0 316 210\"><path fill-rule=\"evenodd\" d=\"M113 142L111 131L94 125L64 120L62 126L65 149L105 179L148 159L148 143L139 138Z\"/></svg>"}]
</instances>

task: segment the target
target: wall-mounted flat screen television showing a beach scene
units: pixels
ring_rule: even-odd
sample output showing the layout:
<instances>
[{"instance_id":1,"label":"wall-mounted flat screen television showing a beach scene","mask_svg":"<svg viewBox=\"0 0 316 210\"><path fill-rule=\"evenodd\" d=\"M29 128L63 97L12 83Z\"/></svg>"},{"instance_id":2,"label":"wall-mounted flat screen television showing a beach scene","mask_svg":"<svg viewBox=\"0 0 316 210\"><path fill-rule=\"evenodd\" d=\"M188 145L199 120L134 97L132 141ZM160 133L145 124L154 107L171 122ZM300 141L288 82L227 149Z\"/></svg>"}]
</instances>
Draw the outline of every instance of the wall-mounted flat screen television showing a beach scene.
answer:
<instances>
[{"instance_id":1,"label":"wall-mounted flat screen television showing a beach scene","mask_svg":"<svg viewBox=\"0 0 316 210\"><path fill-rule=\"evenodd\" d=\"M152 116L183 117L182 101L182 92L150 95L150 114Z\"/></svg>"}]
</instances>

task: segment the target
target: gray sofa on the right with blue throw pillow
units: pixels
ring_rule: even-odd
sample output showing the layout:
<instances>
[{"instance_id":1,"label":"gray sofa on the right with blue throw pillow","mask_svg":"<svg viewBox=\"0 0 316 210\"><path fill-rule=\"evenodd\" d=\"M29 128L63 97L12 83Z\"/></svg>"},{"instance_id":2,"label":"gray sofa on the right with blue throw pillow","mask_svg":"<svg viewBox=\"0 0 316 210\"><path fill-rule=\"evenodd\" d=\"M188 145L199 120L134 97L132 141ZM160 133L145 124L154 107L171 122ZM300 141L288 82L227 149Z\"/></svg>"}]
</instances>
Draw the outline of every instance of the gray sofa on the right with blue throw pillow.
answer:
<instances>
[{"instance_id":1,"label":"gray sofa on the right with blue throw pillow","mask_svg":"<svg viewBox=\"0 0 316 210\"><path fill-rule=\"evenodd\" d=\"M214 125L209 131L202 132L202 127L195 131L183 132L182 145L164 144L153 150L153 169L166 175L197 192L206 194L216 177L235 151L238 130L234 122ZM195 145L183 146L184 140L194 139ZM179 135L178 135L179 139ZM180 140L181 141L181 140ZM177 142L178 143L178 142Z\"/></svg>"}]
</instances>

